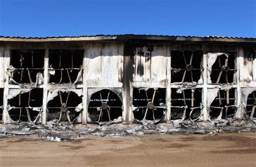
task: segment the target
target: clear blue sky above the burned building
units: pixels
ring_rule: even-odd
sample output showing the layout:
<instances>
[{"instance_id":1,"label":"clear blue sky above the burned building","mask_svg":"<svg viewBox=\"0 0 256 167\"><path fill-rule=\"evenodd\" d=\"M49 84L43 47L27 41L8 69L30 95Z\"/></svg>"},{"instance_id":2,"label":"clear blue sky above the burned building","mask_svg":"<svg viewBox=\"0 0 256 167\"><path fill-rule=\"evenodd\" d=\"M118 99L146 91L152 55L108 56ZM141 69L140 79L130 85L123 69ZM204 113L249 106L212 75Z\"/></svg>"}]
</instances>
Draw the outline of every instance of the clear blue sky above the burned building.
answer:
<instances>
[{"instance_id":1,"label":"clear blue sky above the burned building","mask_svg":"<svg viewBox=\"0 0 256 167\"><path fill-rule=\"evenodd\" d=\"M0 35L256 37L256 0L0 0Z\"/></svg>"}]
</instances>

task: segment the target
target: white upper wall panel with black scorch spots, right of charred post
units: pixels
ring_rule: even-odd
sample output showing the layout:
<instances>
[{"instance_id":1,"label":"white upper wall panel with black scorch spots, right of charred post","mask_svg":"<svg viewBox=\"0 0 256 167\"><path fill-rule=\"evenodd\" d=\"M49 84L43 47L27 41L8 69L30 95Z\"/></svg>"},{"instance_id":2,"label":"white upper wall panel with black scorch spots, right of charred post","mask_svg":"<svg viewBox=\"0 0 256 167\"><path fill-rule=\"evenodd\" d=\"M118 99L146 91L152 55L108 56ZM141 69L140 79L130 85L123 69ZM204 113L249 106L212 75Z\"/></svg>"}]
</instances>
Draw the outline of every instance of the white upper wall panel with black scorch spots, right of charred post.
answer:
<instances>
[{"instance_id":1,"label":"white upper wall panel with black scorch spots, right of charred post","mask_svg":"<svg viewBox=\"0 0 256 167\"><path fill-rule=\"evenodd\" d=\"M135 45L134 52L133 86L166 87L170 46L164 43L139 43Z\"/></svg>"}]
</instances>

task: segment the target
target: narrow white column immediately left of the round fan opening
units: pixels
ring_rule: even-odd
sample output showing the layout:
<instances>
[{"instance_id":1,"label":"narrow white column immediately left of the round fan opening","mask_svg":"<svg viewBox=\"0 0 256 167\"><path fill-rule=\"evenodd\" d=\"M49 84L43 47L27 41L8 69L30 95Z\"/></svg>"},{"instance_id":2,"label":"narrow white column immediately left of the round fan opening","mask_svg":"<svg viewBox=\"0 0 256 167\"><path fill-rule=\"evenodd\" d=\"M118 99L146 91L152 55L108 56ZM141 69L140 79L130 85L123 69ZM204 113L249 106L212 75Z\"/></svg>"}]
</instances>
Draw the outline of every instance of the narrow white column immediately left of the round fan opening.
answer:
<instances>
[{"instance_id":1,"label":"narrow white column immediately left of the round fan opening","mask_svg":"<svg viewBox=\"0 0 256 167\"><path fill-rule=\"evenodd\" d=\"M83 112L82 124L87 124L87 83L86 83L86 50L84 50L83 59Z\"/></svg>"}]
</instances>

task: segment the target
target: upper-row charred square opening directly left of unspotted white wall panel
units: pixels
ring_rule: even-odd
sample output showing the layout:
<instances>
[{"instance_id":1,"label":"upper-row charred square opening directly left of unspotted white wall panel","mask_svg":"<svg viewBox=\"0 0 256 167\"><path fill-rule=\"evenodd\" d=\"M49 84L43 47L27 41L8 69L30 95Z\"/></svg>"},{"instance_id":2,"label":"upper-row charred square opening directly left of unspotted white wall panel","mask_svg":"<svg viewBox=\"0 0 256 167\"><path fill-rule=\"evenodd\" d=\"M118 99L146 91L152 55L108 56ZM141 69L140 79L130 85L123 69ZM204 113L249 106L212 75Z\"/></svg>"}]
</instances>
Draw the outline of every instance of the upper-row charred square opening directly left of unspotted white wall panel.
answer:
<instances>
[{"instance_id":1,"label":"upper-row charred square opening directly left of unspotted white wall panel","mask_svg":"<svg viewBox=\"0 0 256 167\"><path fill-rule=\"evenodd\" d=\"M84 50L49 50L49 82L73 84L82 77L83 55Z\"/></svg>"}]
</instances>

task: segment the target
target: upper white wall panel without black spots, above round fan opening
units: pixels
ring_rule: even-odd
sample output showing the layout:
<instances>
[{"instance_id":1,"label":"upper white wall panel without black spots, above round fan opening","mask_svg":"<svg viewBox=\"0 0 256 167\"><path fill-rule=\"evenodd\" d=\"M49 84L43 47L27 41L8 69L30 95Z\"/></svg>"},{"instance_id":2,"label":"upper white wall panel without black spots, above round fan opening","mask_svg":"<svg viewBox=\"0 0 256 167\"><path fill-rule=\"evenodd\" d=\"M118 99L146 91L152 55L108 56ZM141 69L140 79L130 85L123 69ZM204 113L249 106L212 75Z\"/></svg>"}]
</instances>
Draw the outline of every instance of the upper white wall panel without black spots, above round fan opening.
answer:
<instances>
[{"instance_id":1,"label":"upper white wall panel without black spots, above round fan opening","mask_svg":"<svg viewBox=\"0 0 256 167\"><path fill-rule=\"evenodd\" d=\"M85 82L89 88L122 88L124 43L91 42L85 48Z\"/></svg>"}]
</instances>

